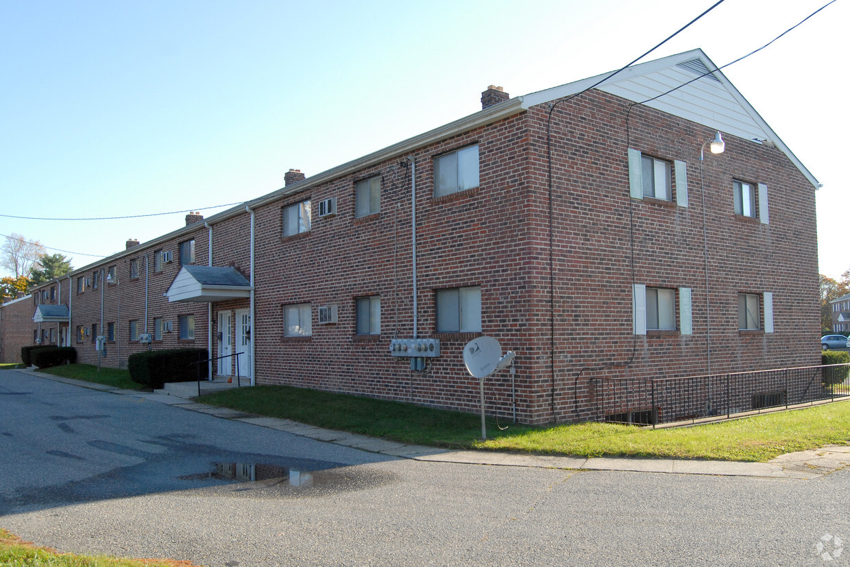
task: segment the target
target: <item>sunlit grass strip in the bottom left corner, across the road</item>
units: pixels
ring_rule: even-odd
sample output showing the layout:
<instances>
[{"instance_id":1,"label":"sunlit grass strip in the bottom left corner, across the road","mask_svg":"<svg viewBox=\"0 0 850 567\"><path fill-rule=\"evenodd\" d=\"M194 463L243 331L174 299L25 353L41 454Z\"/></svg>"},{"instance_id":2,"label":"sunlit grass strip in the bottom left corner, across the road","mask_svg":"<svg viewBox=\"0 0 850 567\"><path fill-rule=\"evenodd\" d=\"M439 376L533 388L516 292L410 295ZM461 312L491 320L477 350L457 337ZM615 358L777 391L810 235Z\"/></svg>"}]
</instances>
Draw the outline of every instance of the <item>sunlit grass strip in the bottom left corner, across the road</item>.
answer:
<instances>
[{"instance_id":1,"label":"sunlit grass strip in the bottom left corner, across the road","mask_svg":"<svg viewBox=\"0 0 850 567\"><path fill-rule=\"evenodd\" d=\"M34 546L30 541L0 528L0 565L29 567L195 567L189 561L174 559L128 559L105 555L59 553L48 547Z\"/></svg>"}]
</instances>

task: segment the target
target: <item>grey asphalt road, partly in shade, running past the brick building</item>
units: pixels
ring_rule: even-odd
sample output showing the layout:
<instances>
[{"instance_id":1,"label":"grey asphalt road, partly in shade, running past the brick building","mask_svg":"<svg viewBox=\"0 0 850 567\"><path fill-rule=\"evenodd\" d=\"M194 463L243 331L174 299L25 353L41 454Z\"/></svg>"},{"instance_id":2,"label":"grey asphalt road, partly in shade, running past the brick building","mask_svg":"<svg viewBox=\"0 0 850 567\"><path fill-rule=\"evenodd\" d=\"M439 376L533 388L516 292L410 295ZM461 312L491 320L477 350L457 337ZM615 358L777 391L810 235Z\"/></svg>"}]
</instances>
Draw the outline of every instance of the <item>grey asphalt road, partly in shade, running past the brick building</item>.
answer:
<instances>
[{"instance_id":1,"label":"grey asphalt road, partly in shade, running past the brick building","mask_svg":"<svg viewBox=\"0 0 850 567\"><path fill-rule=\"evenodd\" d=\"M15 371L0 371L0 455L0 527L64 551L230 567L850 564L847 470L417 462ZM228 479L234 464L269 478Z\"/></svg>"}]
</instances>

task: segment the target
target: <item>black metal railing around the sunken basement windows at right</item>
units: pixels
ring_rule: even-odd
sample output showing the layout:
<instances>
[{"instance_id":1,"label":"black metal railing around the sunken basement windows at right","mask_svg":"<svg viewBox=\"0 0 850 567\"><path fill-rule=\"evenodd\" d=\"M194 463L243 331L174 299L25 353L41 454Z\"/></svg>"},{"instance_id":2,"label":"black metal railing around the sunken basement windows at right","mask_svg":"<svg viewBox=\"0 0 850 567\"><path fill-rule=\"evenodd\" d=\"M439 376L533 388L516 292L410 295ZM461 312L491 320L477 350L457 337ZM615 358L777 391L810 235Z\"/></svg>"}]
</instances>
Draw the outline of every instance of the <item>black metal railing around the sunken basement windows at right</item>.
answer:
<instances>
[{"instance_id":1,"label":"black metal railing around the sunken basement windows at right","mask_svg":"<svg viewBox=\"0 0 850 567\"><path fill-rule=\"evenodd\" d=\"M674 378L593 378L598 421L658 425L729 418L850 396L850 364Z\"/></svg>"}]
</instances>

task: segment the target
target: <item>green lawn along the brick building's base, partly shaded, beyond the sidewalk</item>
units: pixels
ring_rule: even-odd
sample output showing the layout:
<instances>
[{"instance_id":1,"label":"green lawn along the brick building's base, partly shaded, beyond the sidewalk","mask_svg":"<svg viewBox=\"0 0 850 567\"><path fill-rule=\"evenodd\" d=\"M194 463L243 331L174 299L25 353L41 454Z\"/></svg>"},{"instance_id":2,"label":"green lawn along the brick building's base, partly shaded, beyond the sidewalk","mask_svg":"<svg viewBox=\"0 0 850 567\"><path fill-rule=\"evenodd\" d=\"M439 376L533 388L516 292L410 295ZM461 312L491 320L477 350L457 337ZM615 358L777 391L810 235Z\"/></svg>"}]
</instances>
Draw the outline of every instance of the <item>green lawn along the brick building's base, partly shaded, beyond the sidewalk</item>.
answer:
<instances>
[{"instance_id":1,"label":"green lawn along the brick building's base, partly shaded, beyond the sidewalk","mask_svg":"<svg viewBox=\"0 0 850 567\"><path fill-rule=\"evenodd\" d=\"M116 388L143 389L130 380L125 370L101 368L98 372L94 366L68 365L45 372ZM783 453L830 444L850 445L850 403L847 402L666 429L596 422L532 428L488 419L489 439L482 442L478 414L306 388L234 388L201 396L198 401L404 443L542 455L765 462Z\"/></svg>"}]
</instances>

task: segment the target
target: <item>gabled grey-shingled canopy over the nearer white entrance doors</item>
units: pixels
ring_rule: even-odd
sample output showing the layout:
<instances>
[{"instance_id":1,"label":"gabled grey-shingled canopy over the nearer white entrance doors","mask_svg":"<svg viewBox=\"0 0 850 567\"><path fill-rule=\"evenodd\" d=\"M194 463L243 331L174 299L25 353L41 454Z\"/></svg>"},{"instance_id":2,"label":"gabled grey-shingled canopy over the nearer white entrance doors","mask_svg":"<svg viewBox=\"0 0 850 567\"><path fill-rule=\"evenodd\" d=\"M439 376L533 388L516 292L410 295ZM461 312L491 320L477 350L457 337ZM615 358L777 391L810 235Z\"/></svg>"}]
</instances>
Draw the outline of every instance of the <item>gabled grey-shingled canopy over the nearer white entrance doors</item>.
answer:
<instances>
[{"instance_id":1,"label":"gabled grey-shingled canopy over the nearer white entrance doors","mask_svg":"<svg viewBox=\"0 0 850 567\"><path fill-rule=\"evenodd\" d=\"M216 303L228 299L250 298L251 282L234 268L187 265L168 287L169 303Z\"/></svg>"}]
</instances>

